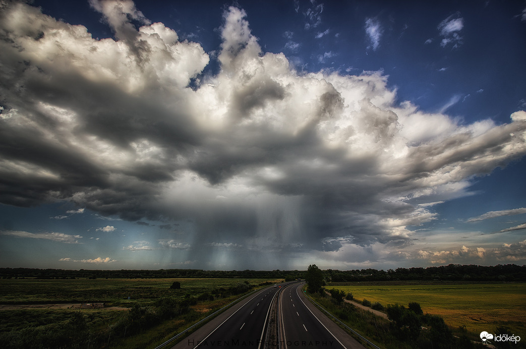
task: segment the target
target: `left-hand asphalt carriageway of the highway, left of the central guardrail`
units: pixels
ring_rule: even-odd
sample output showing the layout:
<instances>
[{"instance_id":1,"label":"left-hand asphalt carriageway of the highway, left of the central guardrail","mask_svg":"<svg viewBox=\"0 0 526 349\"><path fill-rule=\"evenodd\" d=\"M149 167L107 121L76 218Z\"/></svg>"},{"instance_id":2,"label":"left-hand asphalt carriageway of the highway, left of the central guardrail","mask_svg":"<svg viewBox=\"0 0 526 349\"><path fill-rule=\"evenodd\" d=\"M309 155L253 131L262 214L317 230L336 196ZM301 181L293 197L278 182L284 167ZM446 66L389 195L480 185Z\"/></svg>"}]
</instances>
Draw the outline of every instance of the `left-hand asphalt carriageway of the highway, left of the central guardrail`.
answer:
<instances>
[{"instance_id":1,"label":"left-hand asphalt carriageway of the highway, left of the central guardrail","mask_svg":"<svg viewBox=\"0 0 526 349\"><path fill-rule=\"evenodd\" d=\"M173 349L263 348L272 298L279 289L270 286L247 297L190 334Z\"/></svg>"}]
</instances>

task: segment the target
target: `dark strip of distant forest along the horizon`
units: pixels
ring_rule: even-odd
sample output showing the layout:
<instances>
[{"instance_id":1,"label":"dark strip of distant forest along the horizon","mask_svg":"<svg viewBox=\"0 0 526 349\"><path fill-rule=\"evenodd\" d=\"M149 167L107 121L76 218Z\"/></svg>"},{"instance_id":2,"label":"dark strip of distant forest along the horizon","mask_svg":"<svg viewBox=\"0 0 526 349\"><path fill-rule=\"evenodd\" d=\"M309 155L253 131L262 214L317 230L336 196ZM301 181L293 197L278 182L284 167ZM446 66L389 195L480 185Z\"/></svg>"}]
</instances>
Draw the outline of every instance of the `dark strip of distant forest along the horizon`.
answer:
<instances>
[{"instance_id":1,"label":"dark strip of distant forest along the horizon","mask_svg":"<svg viewBox=\"0 0 526 349\"><path fill-rule=\"evenodd\" d=\"M160 270L62 270L34 268L0 268L1 278L178 278L178 277L227 277L227 278L266 278L286 281L304 278L306 271L209 271L198 269L160 269ZM459 265L449 264L428 268L396 268L376 270L324 270L326 282L356 281L505 281L526 282L526 265Z\"/></svg>"}]
</instances>

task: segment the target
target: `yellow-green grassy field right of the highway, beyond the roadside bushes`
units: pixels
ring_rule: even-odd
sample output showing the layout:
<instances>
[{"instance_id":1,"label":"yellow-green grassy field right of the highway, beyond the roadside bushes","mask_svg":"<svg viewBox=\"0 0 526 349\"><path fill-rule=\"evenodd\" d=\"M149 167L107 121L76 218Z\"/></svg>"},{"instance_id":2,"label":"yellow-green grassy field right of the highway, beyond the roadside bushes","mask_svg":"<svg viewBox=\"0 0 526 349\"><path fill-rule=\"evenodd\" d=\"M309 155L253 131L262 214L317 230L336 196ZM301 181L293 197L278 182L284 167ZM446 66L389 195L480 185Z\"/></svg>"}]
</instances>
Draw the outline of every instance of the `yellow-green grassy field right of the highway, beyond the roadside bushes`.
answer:
<instances>
[{"instance_id":1,"label":"yellow-green grassy field right of the highway, beyond the roadside bushes","mask_svg":"<svg viewBox=\"0 0 526 349\"><path fill-rule=\"evenodd\" d=\"M330 288L352 293L357 301L401 304L418 302L424 313L440 315L451 327L466 326L472 333L492 332L496 326L507 326L511 332L526 338L526 284L427 284L396 285L393 283L338 285Z\"/></svg>"}]
</instances>

